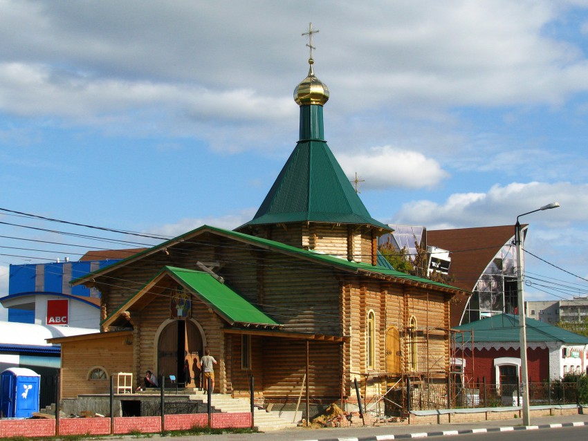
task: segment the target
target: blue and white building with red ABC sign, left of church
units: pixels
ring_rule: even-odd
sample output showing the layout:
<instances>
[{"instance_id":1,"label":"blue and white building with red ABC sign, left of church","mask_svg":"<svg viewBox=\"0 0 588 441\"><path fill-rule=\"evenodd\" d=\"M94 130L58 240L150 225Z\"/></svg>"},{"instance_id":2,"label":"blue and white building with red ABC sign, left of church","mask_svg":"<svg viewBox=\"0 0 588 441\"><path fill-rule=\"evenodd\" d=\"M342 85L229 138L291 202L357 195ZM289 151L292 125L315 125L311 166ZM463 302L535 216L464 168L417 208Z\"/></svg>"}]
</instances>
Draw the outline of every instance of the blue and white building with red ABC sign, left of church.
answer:
<instances>
[{"instance_id":1,"label":"blue and white building with red ABC sign, left of church","mask_svg":"<svg viewBox=\"0 0 588 441\"><path fill-rule=\"evenodd\" d=\"M41 376L41 406L55 402L61 347L46 340L100 328L100 292L70 282L136 251L89 252L77 262L10 265L8 295L0 298L8 308L8 322L0 321L0 372L35 370Z\"/></svg>"}]
</instances>

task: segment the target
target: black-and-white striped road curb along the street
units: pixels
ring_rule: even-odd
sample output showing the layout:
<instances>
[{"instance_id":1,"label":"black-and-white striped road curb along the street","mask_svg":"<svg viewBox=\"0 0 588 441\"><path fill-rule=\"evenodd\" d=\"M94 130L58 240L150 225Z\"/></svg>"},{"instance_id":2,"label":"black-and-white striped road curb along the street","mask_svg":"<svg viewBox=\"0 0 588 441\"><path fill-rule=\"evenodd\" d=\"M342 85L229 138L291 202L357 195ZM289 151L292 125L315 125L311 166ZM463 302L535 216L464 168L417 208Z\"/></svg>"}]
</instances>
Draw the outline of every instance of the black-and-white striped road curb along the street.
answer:
<instances>
[{"instance_id":1,"label":"black-and-white striped road curb along the street","mask_svg":"<svg viewBox=\"0 0 588 441\"><path fill-rule=\"evenodd\" d=\"M560 427L576 427L588 426L588 422L562 422L556 424L539 424L538 426L504 426L504 427L489 427L477 429L463 429L463 430L448 430L448 431L431 431L431 432L414 432L414 433L399 433L397 435L373 435L343 438L320 438L304 441L387 441L387 440L408 440L413 438L428 438L430 436L447 436L447 435L471 435L472 433L493 433L493 432L509 432L509 431L527 431L527 430L542 430L542 429L558 429Z\"/></svg>"}]
</instances>

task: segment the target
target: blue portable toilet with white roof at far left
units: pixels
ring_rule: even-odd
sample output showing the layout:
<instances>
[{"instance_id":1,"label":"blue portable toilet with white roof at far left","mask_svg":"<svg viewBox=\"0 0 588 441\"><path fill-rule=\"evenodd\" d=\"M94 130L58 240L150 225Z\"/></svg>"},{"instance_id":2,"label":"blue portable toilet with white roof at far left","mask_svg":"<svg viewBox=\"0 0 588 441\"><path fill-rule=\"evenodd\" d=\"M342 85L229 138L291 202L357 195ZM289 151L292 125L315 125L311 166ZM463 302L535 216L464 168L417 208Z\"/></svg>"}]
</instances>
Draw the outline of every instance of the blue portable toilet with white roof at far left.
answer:
<instances>
[{"instance_id":1,"label":"blue portable toilet with white roof at far left","mask_svg":"<svg viewBox=\"0 0 588 441\"><path fill-rule=\"evenodd\" d=\"M28 368L0 374L0 409L4 418L28 418L39 411L41 376Z\"/></svg>"}]
</instances>

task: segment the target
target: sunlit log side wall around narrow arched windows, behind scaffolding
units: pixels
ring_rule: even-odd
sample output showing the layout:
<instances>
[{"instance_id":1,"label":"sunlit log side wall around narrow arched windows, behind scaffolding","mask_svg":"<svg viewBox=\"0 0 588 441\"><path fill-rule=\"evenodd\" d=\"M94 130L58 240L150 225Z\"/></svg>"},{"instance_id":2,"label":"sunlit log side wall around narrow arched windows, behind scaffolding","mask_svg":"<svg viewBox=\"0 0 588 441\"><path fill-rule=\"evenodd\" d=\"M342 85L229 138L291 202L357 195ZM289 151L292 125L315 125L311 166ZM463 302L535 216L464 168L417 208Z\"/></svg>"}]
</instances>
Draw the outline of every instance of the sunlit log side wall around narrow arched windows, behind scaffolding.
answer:
<instances>
[{"instance_id":1,"label":"sunlit log side wall around narrow arched windows, behind scaffolding","mask_svg":"<svg viewBox=\"0 0 588 441\"><path fill-rule=\"evenodd\" d=\"M351 384L357 374L381 375L386 371L385 335L394 326L400 332L403 373L421 378L441 378L449 370L449 302L445 294L424 288L369 279L346 283L342 288L341 309L345 328L351 337L343 348L344 370ZM374 368L367 366L367 317L375 318ZM410 317L417 322L416 370L408 365L407 326ZM345 345L347 346L347 345ZM347 391L349 392L349 385Z\"/></svg>"}]
</instances>

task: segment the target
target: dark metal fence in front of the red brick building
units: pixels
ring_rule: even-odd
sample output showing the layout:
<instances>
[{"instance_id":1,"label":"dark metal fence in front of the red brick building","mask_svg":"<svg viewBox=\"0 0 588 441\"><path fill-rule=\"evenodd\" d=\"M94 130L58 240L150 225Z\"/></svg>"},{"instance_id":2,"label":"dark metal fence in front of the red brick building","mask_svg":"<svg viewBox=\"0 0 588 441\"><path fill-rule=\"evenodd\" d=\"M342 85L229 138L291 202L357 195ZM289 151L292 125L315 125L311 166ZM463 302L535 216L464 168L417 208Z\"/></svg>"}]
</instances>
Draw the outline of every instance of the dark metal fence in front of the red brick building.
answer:
<instances>
[{"instance_id":1,"label":"dark metal fence in front of the red brick building","mask_svg":"<svg viewBox=\"0 0 588 441\"><path fill-rule=\"evenodd\" d=\"M447 391L450 391L448 395ZM529 384L529 404L578 404L576 382L542 382ZM479 383L463 387L458 384L419 384L410 387L410 409L472 409L522 405L519 384Z\"/></svg>"}]
</instances>

